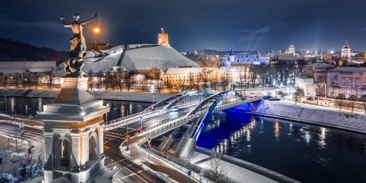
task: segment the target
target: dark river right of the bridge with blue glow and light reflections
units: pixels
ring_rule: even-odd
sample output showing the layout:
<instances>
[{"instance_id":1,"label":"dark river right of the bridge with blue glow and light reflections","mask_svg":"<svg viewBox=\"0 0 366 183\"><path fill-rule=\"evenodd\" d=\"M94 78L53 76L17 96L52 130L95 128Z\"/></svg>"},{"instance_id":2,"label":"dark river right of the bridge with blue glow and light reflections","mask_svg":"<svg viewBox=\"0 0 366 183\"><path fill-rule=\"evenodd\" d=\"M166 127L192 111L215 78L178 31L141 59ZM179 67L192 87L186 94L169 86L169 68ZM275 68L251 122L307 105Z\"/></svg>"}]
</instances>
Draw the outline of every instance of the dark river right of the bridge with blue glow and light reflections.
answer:
<instances>
[{"instance_id":1,"label":"dark river right of the bridge with blue glow and light reflections","mask_svg":"<svg viewBox=\"0 0 366 183\"><path fill-rule=\"evenodd\" d=\"M365 183L366 136L244 114L215 112L197 145L304 183Z\"/></svg>"}]
</instances>

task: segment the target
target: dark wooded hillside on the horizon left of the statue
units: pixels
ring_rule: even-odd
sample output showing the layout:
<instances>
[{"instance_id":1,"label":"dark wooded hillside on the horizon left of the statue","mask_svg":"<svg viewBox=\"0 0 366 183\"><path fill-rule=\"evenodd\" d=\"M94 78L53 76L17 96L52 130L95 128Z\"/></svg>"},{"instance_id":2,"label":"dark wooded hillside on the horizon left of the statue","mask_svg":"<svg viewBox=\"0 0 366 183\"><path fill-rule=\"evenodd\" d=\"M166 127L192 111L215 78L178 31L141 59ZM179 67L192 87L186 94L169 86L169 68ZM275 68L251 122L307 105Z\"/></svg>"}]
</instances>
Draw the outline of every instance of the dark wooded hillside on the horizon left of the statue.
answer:
<instances>
[{"instance_id":1,"label":"dark wooded hillside on the horizon left of the statue","mask_svg":"<svg viewBox=\"0 0 366 183\"><path fill-rule=\"evenodd\" d=\"M65 61L67 52L56 51L52 48L39 48L12 39L0 39L0 61L56 61L57 64Z\"/></svg>"}]
</instances>

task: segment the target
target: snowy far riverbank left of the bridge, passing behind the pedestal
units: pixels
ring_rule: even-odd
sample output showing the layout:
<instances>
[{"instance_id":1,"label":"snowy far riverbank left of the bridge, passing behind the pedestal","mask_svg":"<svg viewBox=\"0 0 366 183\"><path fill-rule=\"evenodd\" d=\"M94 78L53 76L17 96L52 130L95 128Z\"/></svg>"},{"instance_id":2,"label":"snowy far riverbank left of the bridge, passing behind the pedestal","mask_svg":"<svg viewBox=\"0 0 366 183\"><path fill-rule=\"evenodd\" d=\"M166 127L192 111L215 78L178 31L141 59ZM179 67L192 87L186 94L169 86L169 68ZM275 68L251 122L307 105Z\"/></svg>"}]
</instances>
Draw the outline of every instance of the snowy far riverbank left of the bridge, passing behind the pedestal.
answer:
<instances>
[{"instance_id":1,"label":"snowy far riverbank left of the bridge, passing behind the pedestal","mask_svg":"<svg viewBox=\"0 0 366 183\"><path fill-rule=\"evenodd\" d=\"M30 98L56 98L61 90L27 90L27 89L0 89L0 97L30 97ZM142 93L121 91L92 91L99 100L133 101L133 102L159 102L173 94Z\"/></svg>"}]
</instances>

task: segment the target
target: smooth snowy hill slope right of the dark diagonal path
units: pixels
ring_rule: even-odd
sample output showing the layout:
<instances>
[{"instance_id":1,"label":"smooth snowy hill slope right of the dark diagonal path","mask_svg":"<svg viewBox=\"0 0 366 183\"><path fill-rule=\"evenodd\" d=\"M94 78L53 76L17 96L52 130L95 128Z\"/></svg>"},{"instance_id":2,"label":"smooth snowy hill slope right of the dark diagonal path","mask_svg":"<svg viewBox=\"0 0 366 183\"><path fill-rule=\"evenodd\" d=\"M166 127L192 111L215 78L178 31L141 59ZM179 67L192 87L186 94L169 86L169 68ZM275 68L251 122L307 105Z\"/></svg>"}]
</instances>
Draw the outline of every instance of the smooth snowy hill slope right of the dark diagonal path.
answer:
<instances>
[{"instance_id":1,"label":"smooth snowy hill slope right of the dark diagonal path","mask_svg":"<svg viewBox=\"0 0 366 183\"><path fill-rule=\"evenodd\" d=\"M199 67L172 47L157 45L127 50L121 66L128 70L151 70L168 67Z\"/></svg>"}]
</instances>

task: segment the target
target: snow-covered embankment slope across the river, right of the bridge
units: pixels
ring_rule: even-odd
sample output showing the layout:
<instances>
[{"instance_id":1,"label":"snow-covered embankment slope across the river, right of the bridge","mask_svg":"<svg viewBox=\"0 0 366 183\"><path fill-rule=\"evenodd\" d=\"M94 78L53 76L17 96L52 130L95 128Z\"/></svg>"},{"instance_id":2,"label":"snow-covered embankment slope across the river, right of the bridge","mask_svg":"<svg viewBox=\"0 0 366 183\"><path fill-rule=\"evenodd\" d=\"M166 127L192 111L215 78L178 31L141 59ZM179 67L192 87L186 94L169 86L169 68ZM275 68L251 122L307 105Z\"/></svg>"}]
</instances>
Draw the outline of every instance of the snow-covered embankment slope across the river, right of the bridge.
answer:
<instances>
[{"instance_id":1,"label":"snow-covered embankment slope across the river, right of the bridge","mask_svg":"<svg viewBox=\"0 0 366 183\"><path fill-rule=\"evenodd\" d=\"M339 111L331 107L299 102L295 105L295 102L292 101L264 100L254 112L348 126L366 132L365 114Z\"/></svg>"}]
</instances>

